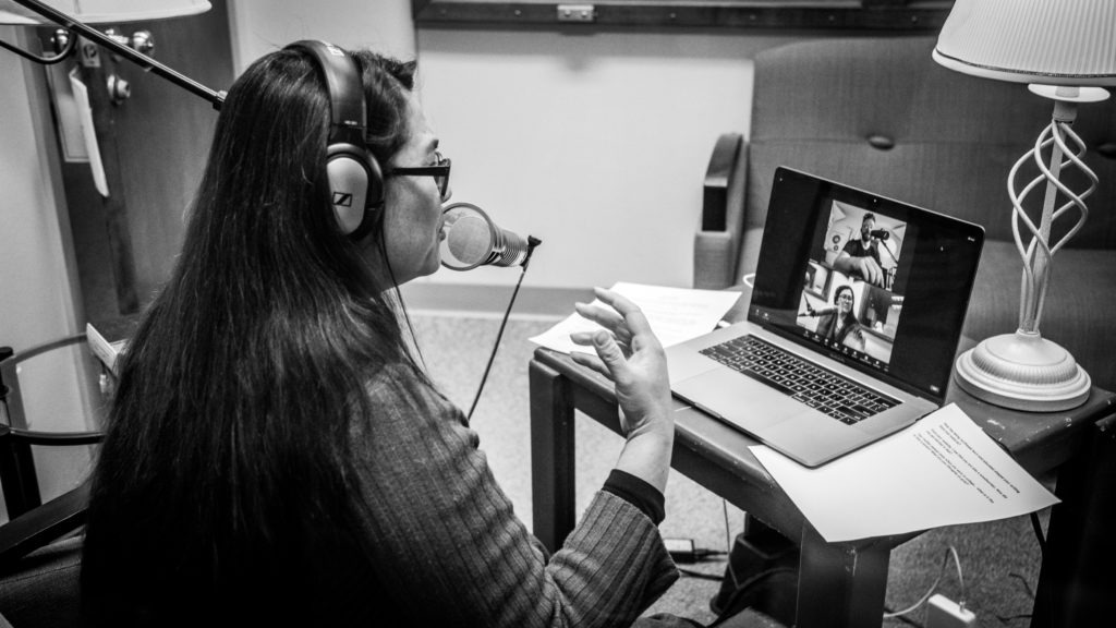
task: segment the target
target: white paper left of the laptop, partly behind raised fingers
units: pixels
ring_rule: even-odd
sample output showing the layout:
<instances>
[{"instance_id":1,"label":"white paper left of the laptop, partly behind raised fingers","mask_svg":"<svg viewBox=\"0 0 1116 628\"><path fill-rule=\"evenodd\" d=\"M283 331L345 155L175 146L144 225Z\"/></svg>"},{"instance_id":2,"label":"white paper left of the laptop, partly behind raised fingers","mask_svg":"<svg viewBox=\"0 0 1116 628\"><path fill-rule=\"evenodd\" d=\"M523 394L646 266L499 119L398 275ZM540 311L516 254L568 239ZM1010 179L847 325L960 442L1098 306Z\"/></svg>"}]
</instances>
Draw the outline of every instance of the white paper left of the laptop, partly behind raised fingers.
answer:
<instances>
[{"instance_id":1,"label":"white paper left of the laptop, partly behind raised fingers","mask_svg":"<svg viewBox=\"0 0 1116 628\"><path fill-rule=\"evenodd\" d=\"M625 282L617 282L609 289L639 306L663 346L685 342L712 331L740 297L739 292L671 288ZM594 303L599 305L597 301ZM530 340L562 353L589 353L591 348L574 344L569 334L599 329L600 325L574 313Z\"/></svg>"}]
</instances>

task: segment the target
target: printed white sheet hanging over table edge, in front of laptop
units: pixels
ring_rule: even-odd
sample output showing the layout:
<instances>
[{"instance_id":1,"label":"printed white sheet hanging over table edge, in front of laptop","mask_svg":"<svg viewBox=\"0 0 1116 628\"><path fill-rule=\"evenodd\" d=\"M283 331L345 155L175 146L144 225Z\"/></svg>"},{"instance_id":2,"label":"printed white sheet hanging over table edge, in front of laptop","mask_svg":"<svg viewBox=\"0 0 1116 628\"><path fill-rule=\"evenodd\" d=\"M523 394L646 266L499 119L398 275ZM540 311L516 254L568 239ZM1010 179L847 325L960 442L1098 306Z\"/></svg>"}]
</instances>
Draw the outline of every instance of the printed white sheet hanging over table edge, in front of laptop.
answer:
<instances>
[{"instance_id":1,"label":"printed white sheet hanging over table edge, in front of laptop","mask_svg":"<svg viewBox=\"0 0 1116 628\"><path fill-rule=\"evenodd\" d=\"M994 521L1059 501L953 403L814 469L762 445L751 450L829 542Z\"/></svg>"}]
</instances>

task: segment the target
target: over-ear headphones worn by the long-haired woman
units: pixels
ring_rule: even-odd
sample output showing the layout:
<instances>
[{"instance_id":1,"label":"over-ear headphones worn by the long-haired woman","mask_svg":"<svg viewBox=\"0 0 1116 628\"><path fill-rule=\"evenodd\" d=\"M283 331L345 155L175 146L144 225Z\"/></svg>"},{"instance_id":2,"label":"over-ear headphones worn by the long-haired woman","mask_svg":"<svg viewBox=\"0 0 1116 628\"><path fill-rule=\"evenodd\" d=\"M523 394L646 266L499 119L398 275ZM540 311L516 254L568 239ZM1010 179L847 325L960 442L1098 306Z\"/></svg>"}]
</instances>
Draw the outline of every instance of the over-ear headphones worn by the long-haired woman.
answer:
<instances>
[{"instance_id":1,"label":"over-ear headphones worn by the long-haired woman","mask_svg":"<svg viewBox=\"0 0 1116 628\"><path fill-rule=\"evenodd\" d=\"M348 53L325 41L304 39L285 49L309 53L325 76L329 91L329 203L341 234L359 239L375 225L375 210L384 202L383 171L365 148L367 105L360 70Z\"/></svg>"}]
</instances>

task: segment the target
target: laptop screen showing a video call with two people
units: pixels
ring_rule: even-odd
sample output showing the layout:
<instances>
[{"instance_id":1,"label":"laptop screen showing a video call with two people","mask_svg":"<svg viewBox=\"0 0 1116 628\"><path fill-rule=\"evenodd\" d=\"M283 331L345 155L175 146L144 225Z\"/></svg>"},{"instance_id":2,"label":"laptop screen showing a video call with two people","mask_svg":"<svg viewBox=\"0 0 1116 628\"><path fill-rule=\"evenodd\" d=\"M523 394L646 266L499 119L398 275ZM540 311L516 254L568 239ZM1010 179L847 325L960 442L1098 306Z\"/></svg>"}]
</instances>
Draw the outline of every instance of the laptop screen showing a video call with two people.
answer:
<instances>
[{"instance_id":1,"label":"laptop screen showing a video call with two people","mask_svg":"<svg viewBox=\"0 0 1116 628\"><path fill-rule=\"evenodd\" d=\"M778 168L748 320L941 401L983 228Z\"/></svg>"}]
</instances>

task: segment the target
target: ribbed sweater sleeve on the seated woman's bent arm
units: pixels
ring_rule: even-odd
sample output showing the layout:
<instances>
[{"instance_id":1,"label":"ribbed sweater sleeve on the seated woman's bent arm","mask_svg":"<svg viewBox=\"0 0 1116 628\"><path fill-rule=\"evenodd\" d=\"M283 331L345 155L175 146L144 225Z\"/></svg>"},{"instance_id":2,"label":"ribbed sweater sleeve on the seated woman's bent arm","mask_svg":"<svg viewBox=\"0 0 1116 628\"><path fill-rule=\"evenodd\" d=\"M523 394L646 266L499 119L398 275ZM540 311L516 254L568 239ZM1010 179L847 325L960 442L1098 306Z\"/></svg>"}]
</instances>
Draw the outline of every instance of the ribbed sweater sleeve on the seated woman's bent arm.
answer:
<instances>
[{"instance_id":1,"label":"ribbed sweater sleeve on the seated woman's bent arm","mask_svg":"<svg viewBox=\"0 0 1116 628\"><path fill-rule=\"evenodd\" d=\"M350 431L365 533L393 615L416 626L628 626L677 579L655 524L596 494L552 556L516 516L464 416L403 370Z\"/></svg>"}]
</instances>

